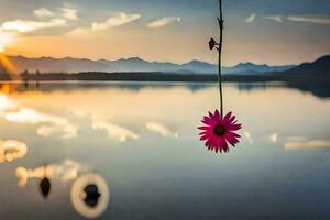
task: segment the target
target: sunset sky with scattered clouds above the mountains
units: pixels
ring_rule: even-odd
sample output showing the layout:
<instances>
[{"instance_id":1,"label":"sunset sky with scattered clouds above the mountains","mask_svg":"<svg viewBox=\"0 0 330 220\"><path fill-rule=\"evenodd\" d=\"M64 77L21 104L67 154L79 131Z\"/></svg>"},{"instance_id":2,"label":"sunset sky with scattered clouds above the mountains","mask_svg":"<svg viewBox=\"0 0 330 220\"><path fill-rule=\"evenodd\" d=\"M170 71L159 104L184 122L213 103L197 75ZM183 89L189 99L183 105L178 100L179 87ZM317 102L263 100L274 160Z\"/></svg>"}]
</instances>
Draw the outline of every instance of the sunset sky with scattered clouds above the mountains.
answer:
<instances>
[{"instance_id":1,"label":"sunset sky with scattered clouds above the mountains","mask_svg":"<svg viewBox=\"0 0 330 220\"><path fill-rule=\"evenodd\" d=\"M0 52L217 62L218 0L0 0ZM299 64L330 54L329 0L223 0L223 63Z\"/></svg>"}]
</instances>

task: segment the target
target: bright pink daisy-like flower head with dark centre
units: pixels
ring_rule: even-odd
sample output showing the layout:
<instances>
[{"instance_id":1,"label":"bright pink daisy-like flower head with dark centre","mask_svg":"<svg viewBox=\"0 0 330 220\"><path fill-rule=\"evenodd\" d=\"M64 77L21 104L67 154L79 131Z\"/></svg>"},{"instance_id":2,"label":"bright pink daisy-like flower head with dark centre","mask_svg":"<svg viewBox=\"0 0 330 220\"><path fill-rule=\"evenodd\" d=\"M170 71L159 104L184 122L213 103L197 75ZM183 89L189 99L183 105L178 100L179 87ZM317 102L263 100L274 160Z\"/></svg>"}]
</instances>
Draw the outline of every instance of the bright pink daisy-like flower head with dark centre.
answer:
<instances>
[{"instance_id":1,"label":"bright pink daisy-like flower head with dark centre","mask_svg":"<svg viewBox=\"0 0 330 220\"><path fill-rule=\"evenodd\" d=\"M209 117L204 117L201 121L205 125L199 127L199 130L202 132L199 134L201 141L206 141L206 146L209 150L216 150L218 153L219 151L228 152L229 146L228 143L232 146L239 143L239 134L234 133L242 128L242 124L238 124L235 121L235 117L232 116L232 112L226 114L224 118L220 116L220 112L216 110L212 114L209 112Z\"/></svg>"}]
</instances>

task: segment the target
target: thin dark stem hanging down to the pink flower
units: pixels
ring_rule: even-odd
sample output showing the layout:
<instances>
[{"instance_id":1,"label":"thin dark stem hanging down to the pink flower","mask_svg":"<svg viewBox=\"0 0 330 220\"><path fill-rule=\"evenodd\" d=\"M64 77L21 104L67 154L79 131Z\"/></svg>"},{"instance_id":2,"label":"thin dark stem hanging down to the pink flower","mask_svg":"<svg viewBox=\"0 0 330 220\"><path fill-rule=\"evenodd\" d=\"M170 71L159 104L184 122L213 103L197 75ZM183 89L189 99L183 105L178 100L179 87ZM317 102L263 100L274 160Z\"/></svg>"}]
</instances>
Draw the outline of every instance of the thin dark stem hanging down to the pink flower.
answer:
<instances>
[{"instance_id":1,"label":"thin dark stem hanging down to the pink flower","mask_svg":"<svg viewBox=\"0 0 330 220\"><path fill-rule=\"evenodd\" d=\"M221 59L222 59L222 41L223 41L223 15L222 15L222 0L219 0L220 18L218 18L219 28L220 28L220 41L219 41L219 90L220 90L220 109L221 116L223 117L223 96L222 96L222 74L221 74Z\"/></svg>"}]
</instances>

